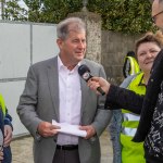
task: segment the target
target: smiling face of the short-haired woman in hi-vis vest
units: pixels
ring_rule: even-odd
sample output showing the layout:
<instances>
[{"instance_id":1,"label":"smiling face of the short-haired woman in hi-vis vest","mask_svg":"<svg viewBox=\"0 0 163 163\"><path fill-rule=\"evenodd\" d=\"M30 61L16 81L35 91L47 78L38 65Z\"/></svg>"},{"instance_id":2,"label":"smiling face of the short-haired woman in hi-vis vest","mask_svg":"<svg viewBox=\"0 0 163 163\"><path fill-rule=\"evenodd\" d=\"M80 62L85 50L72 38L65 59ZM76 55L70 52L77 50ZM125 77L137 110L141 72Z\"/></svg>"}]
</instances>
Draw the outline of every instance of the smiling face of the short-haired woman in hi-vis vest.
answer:
<instances>
[{"instance_id":1,"label":"smiling face of the short-haired woman in hi-vis vest","mask_svg":"<svg viewBox=\"0 0 163 163\"><path fill-rule=\"evenodd\" d=\"M138 47L137 59L141 71L150 73L153 61L161 48L155 42L145 42Z\"/></svg>"}]
</instances>

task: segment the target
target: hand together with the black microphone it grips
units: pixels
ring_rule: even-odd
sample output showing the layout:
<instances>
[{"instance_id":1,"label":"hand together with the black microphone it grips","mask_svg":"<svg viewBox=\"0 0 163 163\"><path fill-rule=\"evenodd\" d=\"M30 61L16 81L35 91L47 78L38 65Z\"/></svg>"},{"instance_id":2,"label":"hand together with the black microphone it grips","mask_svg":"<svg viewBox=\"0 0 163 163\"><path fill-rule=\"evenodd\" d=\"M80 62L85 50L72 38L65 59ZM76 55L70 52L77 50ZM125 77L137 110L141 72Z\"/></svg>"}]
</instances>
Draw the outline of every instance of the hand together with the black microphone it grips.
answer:
<instances>
[{"instance_id":1,"label":"hand together with the black microphone it grips","mask_svg":"<svg viewBox=\"0 0 163 163\"><path fill-rule=\"evenodd\" d=\"M88 83L88 86L92 90L98 91L102 96L104 96L108 92L110 84L102 77L93 77L90 74L90 70L87 65L80 65L78 67L78 74L82 76L83 79L85 79Z\"/></svg>"}]
</instances>

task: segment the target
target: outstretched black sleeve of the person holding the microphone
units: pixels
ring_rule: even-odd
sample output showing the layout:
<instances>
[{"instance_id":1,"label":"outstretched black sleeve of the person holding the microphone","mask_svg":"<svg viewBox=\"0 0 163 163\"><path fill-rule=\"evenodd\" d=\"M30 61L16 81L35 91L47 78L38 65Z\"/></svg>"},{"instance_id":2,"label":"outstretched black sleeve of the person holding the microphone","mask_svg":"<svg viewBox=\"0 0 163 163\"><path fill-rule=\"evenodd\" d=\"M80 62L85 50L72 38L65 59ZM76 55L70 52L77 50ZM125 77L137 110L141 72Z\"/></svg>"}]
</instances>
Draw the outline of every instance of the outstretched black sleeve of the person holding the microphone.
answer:
<instances>
[{"instance_id":1,"label":"outstretched black sleeve of the person holding the microphone","mask_svg":"<svg viewBox=\"0 0 163 163\"><path fill-rule=\"evenodd\" d=\"M105 108L109 110L122 109L140 114L143 102L143 96L139 96L131 90L111 85L106 95Z\"/></svg>"}]
</instances>

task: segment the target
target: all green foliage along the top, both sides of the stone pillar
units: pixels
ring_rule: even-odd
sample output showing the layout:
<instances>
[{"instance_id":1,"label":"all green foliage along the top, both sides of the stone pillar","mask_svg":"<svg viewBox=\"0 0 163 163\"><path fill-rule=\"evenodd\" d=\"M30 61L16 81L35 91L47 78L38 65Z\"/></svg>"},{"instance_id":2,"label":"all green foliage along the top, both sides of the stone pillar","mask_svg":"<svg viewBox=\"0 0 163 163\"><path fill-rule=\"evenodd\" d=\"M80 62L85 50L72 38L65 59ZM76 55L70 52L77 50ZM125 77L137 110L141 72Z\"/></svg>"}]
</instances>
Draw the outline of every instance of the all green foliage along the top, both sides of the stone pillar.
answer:
<instances>
[{"instance_id":1,"label":"all green foliage along the top, both sides of the stone pillar","mask_svg":"<svg viewBox=\"0 0 163 163\"><path fill-rule=\"evenodd\" d=\"M58 24L68 13L83 9L83 0L24 0L28 11L20 8L17 1L7 3L5 20ZM89 0L87 9L101 15L102 29L125 34L156 29L151 22L149 0Z\"/></svg>"}]
</instances>

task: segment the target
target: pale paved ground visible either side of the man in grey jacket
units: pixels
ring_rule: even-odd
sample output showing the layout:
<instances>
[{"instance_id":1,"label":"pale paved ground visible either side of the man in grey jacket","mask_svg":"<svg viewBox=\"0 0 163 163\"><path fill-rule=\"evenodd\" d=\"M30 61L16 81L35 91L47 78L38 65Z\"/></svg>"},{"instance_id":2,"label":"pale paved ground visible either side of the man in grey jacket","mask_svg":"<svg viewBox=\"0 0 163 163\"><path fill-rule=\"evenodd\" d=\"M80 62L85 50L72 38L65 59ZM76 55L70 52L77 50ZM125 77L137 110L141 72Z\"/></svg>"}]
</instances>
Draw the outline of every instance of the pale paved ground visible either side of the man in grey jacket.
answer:
<instances>
[{"instance_id":1,"label":"pale paved ground visible either side of the man in grey jacket","mask_svg":"<svg viewBox=\"0 0 163 163\"><path fill-rule=\"evenodd\" d=\"M112 148L109 134L104 131L100 138L101 141L101 163L112 163ZM13 163L34 163L33 161L33 138L24 137L11 142Z\"/></svg>"}]
</instances>

